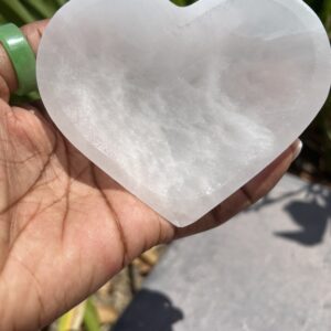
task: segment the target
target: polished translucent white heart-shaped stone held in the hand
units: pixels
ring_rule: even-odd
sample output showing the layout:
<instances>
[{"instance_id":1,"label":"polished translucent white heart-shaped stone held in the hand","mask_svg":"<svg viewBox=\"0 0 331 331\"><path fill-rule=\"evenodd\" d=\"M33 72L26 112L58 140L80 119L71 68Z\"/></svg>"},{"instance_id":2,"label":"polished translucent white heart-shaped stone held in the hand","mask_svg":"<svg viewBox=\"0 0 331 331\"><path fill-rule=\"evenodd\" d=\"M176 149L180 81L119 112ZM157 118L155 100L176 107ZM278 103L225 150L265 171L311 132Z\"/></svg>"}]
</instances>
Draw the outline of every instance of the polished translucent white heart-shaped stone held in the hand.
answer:
<instances>
[{"instance_id":1,"label":"polished translucent white heart-shaped stone held in the hand","mask_svg":"<svg viewBox=\"0 0 331 331\"><path fill-rule=\"evenodd\" d=\"M46 29L38 81L68 140L184 226L303 131L331 52L300 0L79 0Z\"/></svg>"}]
</instances>

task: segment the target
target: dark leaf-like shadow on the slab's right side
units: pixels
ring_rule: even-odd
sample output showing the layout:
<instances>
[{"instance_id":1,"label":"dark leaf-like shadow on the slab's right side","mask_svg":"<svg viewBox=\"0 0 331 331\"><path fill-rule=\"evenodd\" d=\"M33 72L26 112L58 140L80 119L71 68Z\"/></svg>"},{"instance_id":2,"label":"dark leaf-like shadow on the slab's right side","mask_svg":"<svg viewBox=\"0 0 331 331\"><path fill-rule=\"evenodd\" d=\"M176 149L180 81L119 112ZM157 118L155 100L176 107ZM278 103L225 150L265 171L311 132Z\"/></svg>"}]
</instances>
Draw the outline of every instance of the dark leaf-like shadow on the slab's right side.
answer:
<instances>
[{"instance_id":1,"label":"dark leaf-like shadow on the slab's right side","mask_svg":"<svg viewBox=\"0 0 331 331\"><path fill-rule=\"evenodd\" d=\"M252 210L256 211L282 200L289 201L284 210L291 216L298 229L281 231L275 235L305 246L322 243L331 221L331 191L320 185L307 184L282 196L266 196Z\"/></svg>"}]
</instances>

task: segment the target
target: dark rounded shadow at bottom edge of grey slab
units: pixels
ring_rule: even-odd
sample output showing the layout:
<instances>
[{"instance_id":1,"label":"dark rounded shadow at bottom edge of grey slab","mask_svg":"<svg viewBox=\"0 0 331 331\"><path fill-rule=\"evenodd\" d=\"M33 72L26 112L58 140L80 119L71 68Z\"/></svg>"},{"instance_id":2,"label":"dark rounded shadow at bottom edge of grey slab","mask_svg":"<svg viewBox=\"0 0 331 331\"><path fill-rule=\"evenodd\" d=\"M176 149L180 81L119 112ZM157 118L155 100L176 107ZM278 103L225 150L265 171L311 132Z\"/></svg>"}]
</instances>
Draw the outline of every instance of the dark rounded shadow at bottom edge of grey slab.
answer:
<instances>
[{"instance_id":1,"label":"dark rounded shadow at bottom edge of grey slab","mask_svg":"<svg viewBox=\"0 0 331 331\"><path fill-rule=\"evenodd\" d=\"M142 289L124 313L114 331L173 331L172 325L184 318L163 293Z\"/></svg>"}]
</instances>

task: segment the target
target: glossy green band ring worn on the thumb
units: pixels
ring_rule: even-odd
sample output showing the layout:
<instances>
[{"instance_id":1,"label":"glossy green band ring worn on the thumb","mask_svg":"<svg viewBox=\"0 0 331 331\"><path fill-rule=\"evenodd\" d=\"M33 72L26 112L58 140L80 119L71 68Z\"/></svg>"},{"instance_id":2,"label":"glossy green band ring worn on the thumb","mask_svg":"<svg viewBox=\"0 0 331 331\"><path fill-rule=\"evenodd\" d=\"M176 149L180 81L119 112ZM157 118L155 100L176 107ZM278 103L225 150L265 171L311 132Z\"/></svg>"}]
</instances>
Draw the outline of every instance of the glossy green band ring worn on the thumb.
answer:
<instances>
[{"instance_id":1,"label":"glossy green band ring worn on the thumb","mask_svg":"<svg viewBox=\"0 0 331 331\"><path fill-rule=\"evenodd\" d=\"M17 73L19 88L17 95L26 95L36 90L35 55L22 31L9 23L0 26L2 43Z\"/></svg>"}]
</instances>

